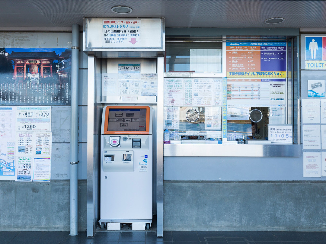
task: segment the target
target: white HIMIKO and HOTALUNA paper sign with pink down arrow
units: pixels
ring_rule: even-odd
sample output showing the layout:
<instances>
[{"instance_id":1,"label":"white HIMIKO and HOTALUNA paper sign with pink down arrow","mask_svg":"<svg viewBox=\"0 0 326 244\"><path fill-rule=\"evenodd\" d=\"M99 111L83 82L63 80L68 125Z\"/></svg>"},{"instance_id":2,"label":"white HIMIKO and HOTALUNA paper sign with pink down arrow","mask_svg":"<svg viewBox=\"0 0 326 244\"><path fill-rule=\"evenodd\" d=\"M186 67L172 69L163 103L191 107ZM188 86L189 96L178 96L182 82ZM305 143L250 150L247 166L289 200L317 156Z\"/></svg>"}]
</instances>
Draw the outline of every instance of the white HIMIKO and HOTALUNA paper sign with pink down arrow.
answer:
<instances>
[{"instance_id":1,"label":"white HIMIKO and HOTALUNA paper sign with pink down arrow","mask_svg":"<svg viewBox=\"0 0 326 244\"><path fill-rule=\"evenodd\" d=\"M103 47L141 47L141 20L107 19L102 21Z\"/></svg>"}]
</instances>

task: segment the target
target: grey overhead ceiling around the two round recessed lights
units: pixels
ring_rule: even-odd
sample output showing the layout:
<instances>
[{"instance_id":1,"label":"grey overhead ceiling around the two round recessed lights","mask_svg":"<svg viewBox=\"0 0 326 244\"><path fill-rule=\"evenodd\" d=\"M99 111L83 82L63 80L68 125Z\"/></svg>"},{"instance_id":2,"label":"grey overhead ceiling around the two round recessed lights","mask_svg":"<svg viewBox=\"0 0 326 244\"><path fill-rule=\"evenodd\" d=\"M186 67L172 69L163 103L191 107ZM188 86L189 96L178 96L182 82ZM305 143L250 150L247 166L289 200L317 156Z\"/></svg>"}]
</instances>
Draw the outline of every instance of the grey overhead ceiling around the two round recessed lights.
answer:
<instances>
[{"instance_id":1,"label":"grey overhead ceiling around the two round recessed lights","mask_svg":"<svg viewBox=\"0 0 326 244\"><path fill-rule=\"evenodd\" d=\"M118 5L133 11L113 13ZM1 0L0 27L82 26L84 17L164 17L166 27L325 28L326 1ZM274 17L285 21L264 23Z\"/></svg>"}]
</instances>

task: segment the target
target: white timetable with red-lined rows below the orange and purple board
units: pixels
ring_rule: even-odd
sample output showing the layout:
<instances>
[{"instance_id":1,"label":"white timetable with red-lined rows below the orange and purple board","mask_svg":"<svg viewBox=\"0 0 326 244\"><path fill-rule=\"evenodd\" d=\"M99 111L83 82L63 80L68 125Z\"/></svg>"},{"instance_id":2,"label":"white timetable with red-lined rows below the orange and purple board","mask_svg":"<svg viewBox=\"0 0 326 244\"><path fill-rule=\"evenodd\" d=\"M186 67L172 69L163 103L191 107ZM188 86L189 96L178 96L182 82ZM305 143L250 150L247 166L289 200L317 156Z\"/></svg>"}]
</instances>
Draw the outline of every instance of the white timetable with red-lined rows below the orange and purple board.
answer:
<instances>
[{"instance_id":1,"label":"white timetable with red-lined rows below the orange and purple board","mask_svg":"<svg viewBox=\"0 0 326 244\"><path fill-rule=\"evenodd\" d=\"M285 79L228 79L228 105L284 107Z\"/></svg>"}]
</instances>

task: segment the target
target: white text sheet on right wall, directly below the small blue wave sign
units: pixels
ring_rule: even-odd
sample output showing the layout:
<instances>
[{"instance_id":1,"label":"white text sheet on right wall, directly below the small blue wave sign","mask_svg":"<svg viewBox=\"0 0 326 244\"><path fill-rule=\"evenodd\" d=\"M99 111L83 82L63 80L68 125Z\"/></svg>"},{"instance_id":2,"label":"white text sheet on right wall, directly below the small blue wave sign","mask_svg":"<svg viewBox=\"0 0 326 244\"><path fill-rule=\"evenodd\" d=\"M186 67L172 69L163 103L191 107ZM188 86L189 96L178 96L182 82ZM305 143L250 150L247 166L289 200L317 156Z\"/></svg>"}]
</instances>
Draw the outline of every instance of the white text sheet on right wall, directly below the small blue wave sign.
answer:
<instances>
[{"instance_id":1,"label":"white text sheet on right wall, directly below the small blue wave sign","mask_svg":"<svg viewBox=\"0 0 326 244\"><path fill-rule=\"evenodd\" d=\"M302 99L302 123L320 123L320 99Z\"/></svg>"}]
</instances>

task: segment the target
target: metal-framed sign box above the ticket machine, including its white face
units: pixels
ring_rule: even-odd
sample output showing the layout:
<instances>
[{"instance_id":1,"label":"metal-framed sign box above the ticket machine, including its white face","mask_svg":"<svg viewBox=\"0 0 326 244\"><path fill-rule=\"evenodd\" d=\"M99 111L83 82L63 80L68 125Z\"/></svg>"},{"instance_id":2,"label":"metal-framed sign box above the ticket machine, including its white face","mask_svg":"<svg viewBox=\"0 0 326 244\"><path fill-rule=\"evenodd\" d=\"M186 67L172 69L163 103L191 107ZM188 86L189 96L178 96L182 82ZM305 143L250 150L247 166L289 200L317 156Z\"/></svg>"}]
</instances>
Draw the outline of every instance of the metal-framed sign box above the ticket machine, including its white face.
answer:
<instances>
[{"instance_id":1,"label":"metal-framed sign box above the ticket machine, including its white face","mask_svg":"<svg viewBox=\"0 0 326 244\"><path fill-rule=\"evenodd\" d=\"M162 18L85 18L83 49L84 52L162 52L163 30Z\"/></svg>"}]
</instances>

